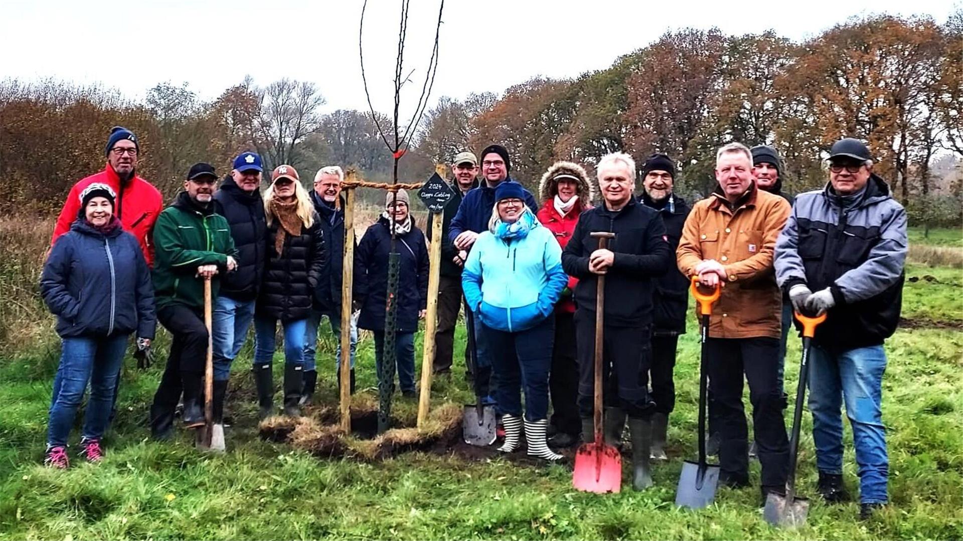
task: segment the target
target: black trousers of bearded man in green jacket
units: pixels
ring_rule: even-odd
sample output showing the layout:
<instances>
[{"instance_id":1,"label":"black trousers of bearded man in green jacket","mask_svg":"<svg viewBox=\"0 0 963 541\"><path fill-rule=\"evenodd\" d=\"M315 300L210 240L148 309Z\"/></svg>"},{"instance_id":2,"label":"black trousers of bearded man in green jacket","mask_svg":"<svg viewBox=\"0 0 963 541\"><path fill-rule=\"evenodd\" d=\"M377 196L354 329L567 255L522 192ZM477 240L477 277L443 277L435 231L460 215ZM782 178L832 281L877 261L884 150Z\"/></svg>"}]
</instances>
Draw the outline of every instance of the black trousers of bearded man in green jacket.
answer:
<instances>
[{"instance_id":1,"label":"black trousers of bearded man in green jacket","mask_svg":"<svg viewBox=\"0 0 963 541\"><path fill-rule=\"evenodd\" d=\"M173 411L185 385L195 387L204 372L207 327L203 313L183 305L161 308L157 311L157 320L169 330L173 340L167 367L154 394L154 407L158 411ZM187 399L187 395L184 398Z\"/></svg>"}]
</instances>

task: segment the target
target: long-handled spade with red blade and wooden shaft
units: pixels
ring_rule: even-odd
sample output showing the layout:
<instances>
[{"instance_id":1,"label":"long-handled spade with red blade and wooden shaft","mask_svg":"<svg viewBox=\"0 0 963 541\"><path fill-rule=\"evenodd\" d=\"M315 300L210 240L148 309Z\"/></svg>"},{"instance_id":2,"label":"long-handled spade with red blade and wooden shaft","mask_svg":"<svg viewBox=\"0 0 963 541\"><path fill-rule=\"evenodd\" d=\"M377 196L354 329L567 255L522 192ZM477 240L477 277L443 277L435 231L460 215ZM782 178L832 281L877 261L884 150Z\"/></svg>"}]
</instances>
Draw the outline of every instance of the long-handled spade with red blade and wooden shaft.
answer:
<instances>
[{"instance_id":1,"label":"long-handled spade with red blade and wooden shaft","mask_svg":"<svg viewBox=\"0 0 963 541\"><path fill-rule=\"evenodd\" d=\"M599 240L599 249L605 249L614 233L592 233ZM604 494L618 492L622 487L622 456L611 445L606 445L602 435L602 331L605 314L605 274L598 276L598 293L595 296L595 399L593 414L595 438L575 452L575 470L572 485L578 490Z\"/></svg>"}]
</instances>

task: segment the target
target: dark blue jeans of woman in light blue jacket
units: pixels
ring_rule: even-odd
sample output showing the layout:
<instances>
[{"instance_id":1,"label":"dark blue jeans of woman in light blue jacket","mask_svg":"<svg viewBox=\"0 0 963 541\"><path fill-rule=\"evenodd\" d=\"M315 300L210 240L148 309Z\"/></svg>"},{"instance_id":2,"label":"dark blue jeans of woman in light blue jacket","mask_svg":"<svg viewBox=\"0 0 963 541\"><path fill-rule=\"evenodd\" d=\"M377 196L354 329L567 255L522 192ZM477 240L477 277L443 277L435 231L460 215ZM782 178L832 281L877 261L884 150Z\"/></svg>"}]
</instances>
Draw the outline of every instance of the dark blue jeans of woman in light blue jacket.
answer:
<instances>
[{"instance_id":1,"label":"dark blue jeans of woman in light blue jacket","mask_svg":"<svg viewBox=\"0 0 963 541\"><path fill-rule=\"evenodd\" d=\"M548 317L534 327L518 332L505 332L484 325L482 329L484 341L495 361L494 372L499 374L498 389L495 390L498 412L522 415L522 400L518 393L521 388L525 391L525 419L546 419L555 317Z\"/></svg>"}]
</instances>

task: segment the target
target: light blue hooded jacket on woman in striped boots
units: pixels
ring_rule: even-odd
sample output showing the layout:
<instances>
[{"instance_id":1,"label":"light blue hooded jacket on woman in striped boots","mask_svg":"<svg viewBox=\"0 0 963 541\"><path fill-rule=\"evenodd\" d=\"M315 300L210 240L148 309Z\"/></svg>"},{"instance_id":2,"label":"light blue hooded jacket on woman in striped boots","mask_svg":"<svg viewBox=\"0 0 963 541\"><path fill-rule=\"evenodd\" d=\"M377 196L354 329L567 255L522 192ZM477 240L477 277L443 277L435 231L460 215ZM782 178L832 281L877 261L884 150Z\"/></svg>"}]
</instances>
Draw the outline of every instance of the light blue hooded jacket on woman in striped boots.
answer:
<instances>
[{"instance_id":1,"label":"light blue hooded jacket on woman in striped boots","mask_svg":"<svg viewBox=\"0 0 963 541\"><path fill-rule=\"evenodd\" d=\"M561 248L535 222L521 239L499 239L485 231L468 254L461 286L468 306L490 328L518 332L552 315L568 275Z\"/></svg>"}]
</instances>

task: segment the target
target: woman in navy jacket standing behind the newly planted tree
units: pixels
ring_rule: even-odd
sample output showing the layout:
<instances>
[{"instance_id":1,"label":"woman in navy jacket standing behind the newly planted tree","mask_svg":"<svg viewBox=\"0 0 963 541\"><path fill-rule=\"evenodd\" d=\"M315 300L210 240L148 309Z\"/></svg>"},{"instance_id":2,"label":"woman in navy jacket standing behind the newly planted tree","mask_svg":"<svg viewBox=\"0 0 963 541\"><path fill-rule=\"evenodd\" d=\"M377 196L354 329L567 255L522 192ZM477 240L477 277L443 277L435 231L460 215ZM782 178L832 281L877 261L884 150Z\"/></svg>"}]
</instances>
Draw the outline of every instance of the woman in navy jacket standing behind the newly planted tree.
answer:
<instances>
[{"instance_id":1,"label":"woman in navy jacket standing behind the newly planted tree","mask_svg":"<svg viewBox=\"0 0 963 541\"><path fill-rule=\"evenodd\" d=\"M398 312L395 320L395 358L402 395L415 397L415 331L428 304L428 247L425 235L408 214L408 193L388 193L384 213L364 233L354 251L354 299L361 305L358 328L375 334L375 364L381 373L384 357L384 307L388 290L388 255L391 228L395 229L401 268L398 277ZM394 389L394 377L391 387Z\"/></svg>"}]
</instances>

